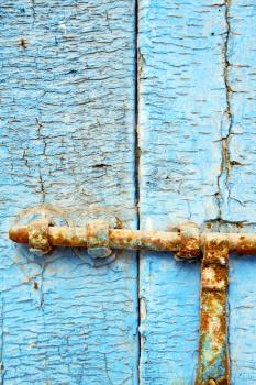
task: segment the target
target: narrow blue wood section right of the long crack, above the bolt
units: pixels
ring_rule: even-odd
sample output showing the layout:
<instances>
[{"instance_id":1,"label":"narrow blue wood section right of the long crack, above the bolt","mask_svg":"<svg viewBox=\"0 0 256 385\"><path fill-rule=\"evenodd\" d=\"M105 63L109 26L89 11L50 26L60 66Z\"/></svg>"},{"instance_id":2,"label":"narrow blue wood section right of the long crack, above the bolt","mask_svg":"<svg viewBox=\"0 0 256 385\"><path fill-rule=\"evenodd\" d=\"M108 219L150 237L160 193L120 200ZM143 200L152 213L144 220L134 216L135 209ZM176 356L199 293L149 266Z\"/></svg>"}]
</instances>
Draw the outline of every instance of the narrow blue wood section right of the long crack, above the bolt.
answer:
<instances>
[{"instance_id":1,"label":"narrow blue wood section right of the long crack, above the bolt","mask_svg":"<svg viewBox=\"0 0 256 385\"><path fill-rule=\"evenodd\" d=\"M229 4L230 37L226 47L231 124L227 133L225 194L222 217L255 223L255 120L256 63L253 1L232 0Z\"/></svg>"}]
</instances>

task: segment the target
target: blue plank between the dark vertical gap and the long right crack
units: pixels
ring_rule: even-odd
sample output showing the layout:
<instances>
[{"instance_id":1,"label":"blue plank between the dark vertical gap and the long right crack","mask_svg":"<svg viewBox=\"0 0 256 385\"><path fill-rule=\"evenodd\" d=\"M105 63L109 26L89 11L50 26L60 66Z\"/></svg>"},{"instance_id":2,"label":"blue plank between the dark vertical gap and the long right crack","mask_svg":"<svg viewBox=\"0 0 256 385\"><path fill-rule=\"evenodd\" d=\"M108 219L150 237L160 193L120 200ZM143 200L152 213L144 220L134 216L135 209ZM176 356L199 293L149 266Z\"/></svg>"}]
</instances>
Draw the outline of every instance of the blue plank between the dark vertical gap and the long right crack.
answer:
<instances>
[{"instance_id":1,"label":"blue plank between the dark vertical gap and the long right crack","mask_svg":"<svg viewBox=\"0 0 256 385\"><path fill-rule=\"evenodd\" d=\"M226 7L141 1L141 227L219 223L230 128ZM192 384L199 341L198 263L141 260L141 383Z\"/></svg>"}]
</instances>

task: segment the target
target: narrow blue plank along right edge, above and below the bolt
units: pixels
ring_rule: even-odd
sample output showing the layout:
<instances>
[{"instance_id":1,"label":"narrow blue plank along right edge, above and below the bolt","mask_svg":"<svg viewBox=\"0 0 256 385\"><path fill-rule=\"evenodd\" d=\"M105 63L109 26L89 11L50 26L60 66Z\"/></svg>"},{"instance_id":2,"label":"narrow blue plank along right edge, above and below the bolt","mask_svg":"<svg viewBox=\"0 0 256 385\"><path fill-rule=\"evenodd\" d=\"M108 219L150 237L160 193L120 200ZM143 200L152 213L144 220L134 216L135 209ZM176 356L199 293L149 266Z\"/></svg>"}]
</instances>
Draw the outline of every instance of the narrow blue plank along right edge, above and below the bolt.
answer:
<instances>
[{"instance_id":1,"label":"narrow blue plank along right edge, above and below the bolt","mask_svg":"<svg viewBox=\"0 0 256 385\"><path fill-rule=\"evenodd\" d=\"M229 4L227 74L231 128L223 196L223 218L255 231L256 162L256 4ZM256 261L233 258L230 267L230 349L232 384L256 383Z\"/></svg>"}]
</instances>

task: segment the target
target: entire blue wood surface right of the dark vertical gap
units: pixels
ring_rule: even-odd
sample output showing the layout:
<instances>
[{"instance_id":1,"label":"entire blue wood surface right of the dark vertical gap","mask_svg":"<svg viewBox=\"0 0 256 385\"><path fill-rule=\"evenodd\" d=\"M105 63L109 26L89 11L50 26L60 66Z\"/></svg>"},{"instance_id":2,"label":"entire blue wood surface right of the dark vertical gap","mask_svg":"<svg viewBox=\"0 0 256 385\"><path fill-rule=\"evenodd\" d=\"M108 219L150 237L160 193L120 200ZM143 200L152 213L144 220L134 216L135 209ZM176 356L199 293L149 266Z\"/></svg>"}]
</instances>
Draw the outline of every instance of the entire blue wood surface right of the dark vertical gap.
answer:
<instances>
[{"instance_id":1,"label":"entire blue wood surface right of the dark vertical gap","mask_svg":"<svg viewBox=\"0 0 256 385\"><path fill-rule=\"evenodd\" d=\"M201 228L208 222L214 230L237 231L240 221L252 217L254 13L252 1L141 1L142 228L167 229L192 220ZM244 261L241 270L235 266ZM230 274L229 338L236 385L245 380L253 384L256 373L255 290L252 279L244 283L249 266L248 276L254 275L255 264L248 261L233 260ZM199 264L144 253L140 270L141 383L192 384L199 341Z\"/></svg>"}]
</instances>

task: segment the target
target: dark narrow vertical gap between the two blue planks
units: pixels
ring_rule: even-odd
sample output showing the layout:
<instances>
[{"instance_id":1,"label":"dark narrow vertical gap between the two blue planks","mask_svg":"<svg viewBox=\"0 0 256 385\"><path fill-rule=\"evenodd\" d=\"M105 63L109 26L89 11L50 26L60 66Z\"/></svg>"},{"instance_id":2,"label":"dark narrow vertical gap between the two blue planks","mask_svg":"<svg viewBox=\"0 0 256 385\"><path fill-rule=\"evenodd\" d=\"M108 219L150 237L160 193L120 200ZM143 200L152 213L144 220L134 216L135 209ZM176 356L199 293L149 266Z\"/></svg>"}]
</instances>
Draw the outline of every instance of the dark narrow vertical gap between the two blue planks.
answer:
<instances>
[{"instance_id":1,"label":"dark narrow vertical gap between the two blue planks","mask_svg":"<svg viewBox=\"0 0 256 385\"><path fill-rule=\"evenodd\" d=\"M134 111L135 111L135 140L134 140L134 163L135 163L135 172L134 172L134 182L135 182L135 207L136 207L136 227L137 229L141 228L141 212L140 212L140 157L141 157L141 150L140 150L140 128L138 128L138 99L140 99L140 78L138 78L138 1L134 0L134 34L135 34L135 55L134 55ZM136 252L136 263L137 263L137 383L141 383L141 257L140 257L140 251Z\"/></svg>"}]
</instances>

